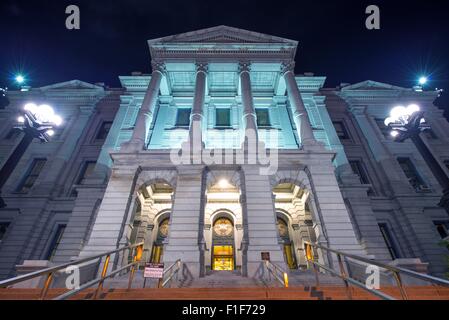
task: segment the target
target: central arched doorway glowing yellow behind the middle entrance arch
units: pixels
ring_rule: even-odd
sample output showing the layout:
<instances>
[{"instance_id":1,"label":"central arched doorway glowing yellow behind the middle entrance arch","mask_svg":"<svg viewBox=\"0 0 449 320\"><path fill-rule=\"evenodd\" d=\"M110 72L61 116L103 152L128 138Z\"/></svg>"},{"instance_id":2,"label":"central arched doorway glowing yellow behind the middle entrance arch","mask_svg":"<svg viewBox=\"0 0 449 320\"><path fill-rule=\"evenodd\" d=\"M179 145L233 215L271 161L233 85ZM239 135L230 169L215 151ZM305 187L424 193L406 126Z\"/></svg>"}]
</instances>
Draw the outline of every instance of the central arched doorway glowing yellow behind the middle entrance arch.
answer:
<instances>
[{"instance_id":1,"label":"central arched doorway glowing yellow behind the middle entrance arch","mask_svg":"<svg viewBox=\"0 0 449 320\"><path fill-rule=\"evenodd\" d=\"M229 218L219 217L212 232L212 270L234 270L234 224Z\"/></svg>"}]
</instances>

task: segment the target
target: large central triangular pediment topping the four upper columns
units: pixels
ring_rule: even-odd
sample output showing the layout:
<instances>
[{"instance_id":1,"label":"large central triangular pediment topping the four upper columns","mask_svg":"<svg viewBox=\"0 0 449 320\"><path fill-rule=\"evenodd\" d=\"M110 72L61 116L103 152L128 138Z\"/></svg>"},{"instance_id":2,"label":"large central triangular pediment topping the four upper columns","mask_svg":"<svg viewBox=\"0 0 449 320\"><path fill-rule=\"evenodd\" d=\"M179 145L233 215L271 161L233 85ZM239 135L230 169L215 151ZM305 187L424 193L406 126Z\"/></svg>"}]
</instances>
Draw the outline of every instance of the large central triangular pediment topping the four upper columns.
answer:
<instances>
[{"instance_id":1,"label":"large central triangular pediment topping the four upper columns","mask_svg":"<svg viewBox=\"0 0 449 320\"><path fill-rule=\"evenodd\" d=\"M174 43L285 43L297 45L297 41L275 37L259 32L253 32L228 26L217 26L207 29L190 31L168 37L149 40L152 44Z\"/></svg>"}]
</instances>

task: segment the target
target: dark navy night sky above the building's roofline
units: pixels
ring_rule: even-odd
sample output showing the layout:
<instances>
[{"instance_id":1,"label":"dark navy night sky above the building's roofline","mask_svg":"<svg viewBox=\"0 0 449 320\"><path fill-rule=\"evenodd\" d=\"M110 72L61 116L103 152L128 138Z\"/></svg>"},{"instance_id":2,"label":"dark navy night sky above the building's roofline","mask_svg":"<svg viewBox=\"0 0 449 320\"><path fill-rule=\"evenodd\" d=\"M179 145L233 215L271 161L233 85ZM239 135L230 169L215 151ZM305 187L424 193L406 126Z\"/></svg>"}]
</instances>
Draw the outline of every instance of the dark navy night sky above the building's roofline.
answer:
<instances>
[{"instance_id":1,"label":"dark navy night sky above the building's roofline","mask_svg":"<svg viewBox=\"0 0 449 320\"><path fill-rule=\"evenodd\" d=\"M66 6L81 10L81 30L65 28ZM380 7L381 29L365 28L365 8ZM449 1L11 1L0 3L0 86L23 72L37 87L80 79L119 86L118 76L150 72L146 40L216 25L299 41L296 72L326 86L375 80L411 87L429 75L449 106ZM449 111L449 107L447 109ZM449 112L448 112L449 113Z\"/></svg>"}]
</instances>

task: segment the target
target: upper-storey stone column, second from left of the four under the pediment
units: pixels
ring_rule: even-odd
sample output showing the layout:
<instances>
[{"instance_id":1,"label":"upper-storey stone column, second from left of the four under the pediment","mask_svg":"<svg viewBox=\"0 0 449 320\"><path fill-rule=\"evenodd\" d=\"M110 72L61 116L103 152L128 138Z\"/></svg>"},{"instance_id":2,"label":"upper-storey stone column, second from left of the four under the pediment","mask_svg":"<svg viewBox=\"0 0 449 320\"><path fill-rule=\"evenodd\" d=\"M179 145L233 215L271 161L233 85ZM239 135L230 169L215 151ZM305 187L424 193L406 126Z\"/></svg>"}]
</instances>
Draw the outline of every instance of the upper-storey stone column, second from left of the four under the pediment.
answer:
<instances>
[{"instance_id":1,"label":"upper-storey stone column, second from left of the four under the pediment","mask_svg":"<svg viewBox=\"0 0 449 320\"><path fill-rule=\"evenodd\" d=\"M195 95L193 97L192 113L190 115L189 143L193 144L193 150L203 146L203 109L206 95L207 64L196 64Z\"/></svg>"}]
</instances>

